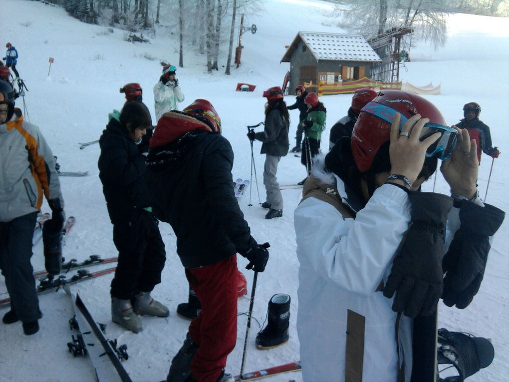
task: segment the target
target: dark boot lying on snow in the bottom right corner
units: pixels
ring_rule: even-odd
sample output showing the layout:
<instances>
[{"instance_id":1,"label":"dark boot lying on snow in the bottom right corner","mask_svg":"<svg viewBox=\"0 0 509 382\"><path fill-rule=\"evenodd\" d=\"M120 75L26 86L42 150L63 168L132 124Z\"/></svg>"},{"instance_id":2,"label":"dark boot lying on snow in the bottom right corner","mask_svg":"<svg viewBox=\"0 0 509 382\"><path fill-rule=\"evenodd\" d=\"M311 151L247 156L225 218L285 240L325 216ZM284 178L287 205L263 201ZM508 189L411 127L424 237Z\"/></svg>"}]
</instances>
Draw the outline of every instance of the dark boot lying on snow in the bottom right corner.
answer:
<instances>
[{"instance_id":1,"label":"dark boot lying on snow in the bottom right corner","mask_svg":"<svg viewBox=\"0 0 509 382\"><path fill-rule=\"evenodd\" d=\"M443 379L440 375L443 382L463 382L479 369L488 367L494 357L495 349L486 338L449 332L443 328L438 330L437 362L439 365L453 365L458 372L458 375Z\"/></svg>"}]
</instances>

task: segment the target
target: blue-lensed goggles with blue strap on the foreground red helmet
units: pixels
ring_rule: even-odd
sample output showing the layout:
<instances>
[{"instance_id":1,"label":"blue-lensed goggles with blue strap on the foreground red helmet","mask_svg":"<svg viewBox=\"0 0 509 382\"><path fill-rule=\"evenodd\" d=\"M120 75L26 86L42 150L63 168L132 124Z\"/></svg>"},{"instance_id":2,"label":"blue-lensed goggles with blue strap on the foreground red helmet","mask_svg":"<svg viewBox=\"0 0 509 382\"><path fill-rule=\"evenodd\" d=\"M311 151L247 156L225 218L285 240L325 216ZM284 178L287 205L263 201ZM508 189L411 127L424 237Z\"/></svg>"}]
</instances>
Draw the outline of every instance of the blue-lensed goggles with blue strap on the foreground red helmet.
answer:
<instances>
[{"instance_id":1,"label":"blue-lensed goggles with blue strap on the foreground red helmet","mask_svg":"<svg viewBox=\"0 0 509 382\"><path fill-rule=\"evenodd\" d=\"M369 102L367 103L361 110L361 113L367 113L378 117L385 122L392 124L392 118L396 113L399 113L397 110L393 109L390 106L383 105L378 102ZM405 117L402 113L400 113L400 131L403 129L403 125L408 118ZM428 150L426 150L426 156L432 157L436 156L440 160L447 160L452 154L453 150L456 148L456 144L458 143L458 131L451 127L443 126L438 123L428 122L422 127L422 131L420 133L419 141L424 141L426 138L430 137L434 133L439 132L441 137L434 142Z\"/></svg>"}]
</instances>

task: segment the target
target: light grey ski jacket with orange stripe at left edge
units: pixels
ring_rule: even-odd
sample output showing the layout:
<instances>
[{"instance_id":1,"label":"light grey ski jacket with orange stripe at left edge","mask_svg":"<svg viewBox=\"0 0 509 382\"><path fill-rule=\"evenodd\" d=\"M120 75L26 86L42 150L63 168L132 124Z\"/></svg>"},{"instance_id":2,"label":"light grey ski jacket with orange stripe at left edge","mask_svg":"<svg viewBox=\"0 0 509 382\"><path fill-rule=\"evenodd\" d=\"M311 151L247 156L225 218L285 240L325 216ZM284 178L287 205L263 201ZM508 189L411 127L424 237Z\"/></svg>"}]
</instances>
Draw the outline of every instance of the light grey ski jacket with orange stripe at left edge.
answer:
<instances>
[{"instance_id":1,"label":"light grey ski jacket with orange stripe at left edge","mask_svg":"<svg viewBox=\"0 0 509 382\"><path fill-rule=\"evenodd\" d=\"M42 197L64 200L53 153L39 127L14 110L0 125L0 222L39 211Z\"/></svg>"}]
</instances>

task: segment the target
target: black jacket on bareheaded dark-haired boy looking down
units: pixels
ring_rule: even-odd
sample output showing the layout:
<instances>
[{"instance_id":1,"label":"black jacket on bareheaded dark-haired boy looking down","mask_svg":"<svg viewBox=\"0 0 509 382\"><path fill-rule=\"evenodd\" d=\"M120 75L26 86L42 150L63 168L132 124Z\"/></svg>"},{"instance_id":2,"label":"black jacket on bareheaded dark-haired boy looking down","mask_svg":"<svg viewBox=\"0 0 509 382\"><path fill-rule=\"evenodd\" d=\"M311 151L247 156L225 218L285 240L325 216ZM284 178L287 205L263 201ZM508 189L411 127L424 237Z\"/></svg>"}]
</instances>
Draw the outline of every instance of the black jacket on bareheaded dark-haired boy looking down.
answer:
<instances>
[{"instance_id":1,"label":"black jacket on bareheaded dark-haired boy looking down","mask_svg":"<svg viewBox=\"0 0 509 382\"><path fill-rule=\"evenodd\" d=\"M114 223L131 219L136 208L150 207L147 189L145 149L136 145L127 129L112 118L99 139L99 179L106 199L109 219Z\"/></svg>"}]
</instances>

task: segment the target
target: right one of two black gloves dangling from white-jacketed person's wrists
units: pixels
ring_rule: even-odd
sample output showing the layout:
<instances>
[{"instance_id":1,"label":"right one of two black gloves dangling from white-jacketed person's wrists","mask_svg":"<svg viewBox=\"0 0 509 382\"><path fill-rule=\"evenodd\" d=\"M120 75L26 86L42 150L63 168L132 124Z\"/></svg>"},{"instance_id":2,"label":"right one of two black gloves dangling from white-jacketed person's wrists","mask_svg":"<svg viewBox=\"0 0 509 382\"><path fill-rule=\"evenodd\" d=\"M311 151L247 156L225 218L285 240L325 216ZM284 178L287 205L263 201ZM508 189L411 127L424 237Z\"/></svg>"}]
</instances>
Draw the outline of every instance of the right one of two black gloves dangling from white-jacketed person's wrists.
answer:
<instances>
[{"instance_id":1,"label":"right one of two black gloves dangling from white-jacketed person's wrists","mask_svg":"<svg viewBox=\"0 0 509 382\"><path fill-rule=\"evenodd\" d=\"M460 228L443 259L443 301L448 307L466 308L483 281L490 251L489 237L497 232L505 212L485 204L464 201L460 207Z\"/></svg>"}]
</instances>

